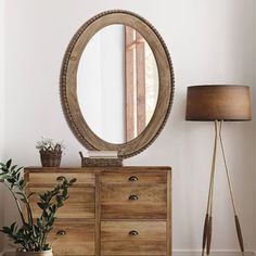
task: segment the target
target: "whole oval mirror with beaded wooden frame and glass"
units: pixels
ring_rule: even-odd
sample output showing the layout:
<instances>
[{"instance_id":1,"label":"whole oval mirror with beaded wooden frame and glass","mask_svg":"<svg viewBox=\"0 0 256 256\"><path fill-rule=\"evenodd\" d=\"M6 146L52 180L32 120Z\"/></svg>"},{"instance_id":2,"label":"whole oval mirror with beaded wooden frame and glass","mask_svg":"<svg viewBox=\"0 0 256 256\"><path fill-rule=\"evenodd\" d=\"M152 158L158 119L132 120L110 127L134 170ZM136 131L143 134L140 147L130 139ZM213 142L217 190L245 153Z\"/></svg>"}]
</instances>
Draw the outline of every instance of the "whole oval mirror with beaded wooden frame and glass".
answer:
<instances>
[{"instance_id":1,"label":"whole oval mirror with beaded wooden frame and glass","mask_svg":"<svg viewBox=\"0 0 256 256\"><path fill-rule=\"evenodd\" d=\"M101 13L76 33L64 56L66 119L89 150L126 158L157 137L174 97L168 50L156 29L127 11Z\"/></svg>"}]
</instances>

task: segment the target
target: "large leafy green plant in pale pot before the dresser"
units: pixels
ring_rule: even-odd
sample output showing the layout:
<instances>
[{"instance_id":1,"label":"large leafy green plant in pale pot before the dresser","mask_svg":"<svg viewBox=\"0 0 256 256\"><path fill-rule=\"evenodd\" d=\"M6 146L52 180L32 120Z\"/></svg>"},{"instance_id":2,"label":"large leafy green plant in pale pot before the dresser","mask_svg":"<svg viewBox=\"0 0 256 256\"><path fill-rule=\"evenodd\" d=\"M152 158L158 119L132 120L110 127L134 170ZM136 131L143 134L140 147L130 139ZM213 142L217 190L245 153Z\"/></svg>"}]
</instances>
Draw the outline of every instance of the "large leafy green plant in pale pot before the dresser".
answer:
<instances>
[{"instance_id":1,"label":"large leafy green plant in pale pot before the dresser","mask_svg":"<svg viewBox=\"0 0 256 256\"><path fill-rule=\"evenodd\" d=\"M11 192L21 217L21 225L15 221L9 227L3 227L1 232L5 233L14 244L20 245L16 252L18 256L52 256L51 246L47 240L48 234L54 226L59 208L68 199L68 188L76 182L76 179L64 178L52 190L40 193L37 205L41 209L41 215L35 219L29 200L35 193L28 194L26 191L27 183L21 178L22 169L12 165L12 159L5 164L0 163L0 183Z\"/></svg>"}]
</instances>

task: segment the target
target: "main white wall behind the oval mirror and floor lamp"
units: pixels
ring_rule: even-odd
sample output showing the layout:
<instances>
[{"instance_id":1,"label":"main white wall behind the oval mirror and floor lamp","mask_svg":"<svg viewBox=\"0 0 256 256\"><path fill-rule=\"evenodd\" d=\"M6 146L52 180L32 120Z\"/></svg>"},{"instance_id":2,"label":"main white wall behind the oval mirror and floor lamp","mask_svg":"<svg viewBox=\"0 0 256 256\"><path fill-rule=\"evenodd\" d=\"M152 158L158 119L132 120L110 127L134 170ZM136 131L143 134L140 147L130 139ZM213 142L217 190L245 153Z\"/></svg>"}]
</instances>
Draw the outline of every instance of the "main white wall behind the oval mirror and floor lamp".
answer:
<instances>
[{"instance_id":1,"label":"main white wall behind the oval mirror and floor lamp","mask_svg":"<svg viewBox=\"0 0 256 256\"><path fill-rule=\"evenodd\" d=\"M199 84L255 86L254 2L7 1L5 156L20 165L39 165L35 143L44 135L65 140L63 165L79 166L78 151L86 150L66 125L59 97L64 51L77 28L92 15L107 9L137 12L154 24L170 50L176 95L170 118L156 142L125 164L174 167L174 249L200 249L213 124L184 121L185 89ZM255 120L225 125L227 155L247 249L256 248L255 128ZM218 167L213 248L238 249L223 166L220 163ZM11 213L10 203L5 202L5 210Z\"/></svg>"}]
</instances>

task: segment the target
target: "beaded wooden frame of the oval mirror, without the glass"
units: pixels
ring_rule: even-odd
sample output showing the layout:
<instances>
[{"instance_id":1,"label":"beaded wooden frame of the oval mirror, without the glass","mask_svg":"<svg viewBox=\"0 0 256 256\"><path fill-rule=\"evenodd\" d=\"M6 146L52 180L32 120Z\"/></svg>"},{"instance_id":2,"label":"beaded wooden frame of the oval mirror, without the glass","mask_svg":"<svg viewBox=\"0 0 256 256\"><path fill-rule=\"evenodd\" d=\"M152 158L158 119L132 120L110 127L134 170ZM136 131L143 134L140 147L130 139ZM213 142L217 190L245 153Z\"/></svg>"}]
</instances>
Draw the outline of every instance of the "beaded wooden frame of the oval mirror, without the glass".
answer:
<instances>
[{"instance_id":1,"label":"beaded wooden frame of the oval mirror, without the glass","mask_svg":"<svg viewBox=\"0 0 256 256\"><path fill-rule=\"evenodd\" d=\"M112 24L130 26L145 38L155 56L159 78L158 100L150 124L137 138L124 144L108 143L99 138L82 116L77 98L76 74L80 56L90 39ZM89 150L117 151L121 158L139 154L153 143L168 118L174 98L172 64L163 38L143 17L124 10L100 13L78 29L64 55L60 84L63 111L76 138Z\"/></svg>"}]
</instances>

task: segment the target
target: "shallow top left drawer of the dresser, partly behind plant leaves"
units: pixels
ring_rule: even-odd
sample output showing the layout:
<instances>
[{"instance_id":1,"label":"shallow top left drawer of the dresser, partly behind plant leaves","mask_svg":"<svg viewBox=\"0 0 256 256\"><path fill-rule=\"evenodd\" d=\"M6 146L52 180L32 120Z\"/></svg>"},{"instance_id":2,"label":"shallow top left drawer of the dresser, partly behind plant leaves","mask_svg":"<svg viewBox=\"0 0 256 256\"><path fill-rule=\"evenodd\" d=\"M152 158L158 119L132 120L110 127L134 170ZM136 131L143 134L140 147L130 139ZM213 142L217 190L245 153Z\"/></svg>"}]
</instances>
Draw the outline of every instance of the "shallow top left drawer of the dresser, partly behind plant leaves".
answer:
<instances>
[{"instance_id":1,"label":"shallow top left drawer of the dresser, partly behind plant leaves","mask_svg":"<svg viewBox=\"0 0 256 256\"><path fill-rule=\"evenodd\" d=\"M44 187L57 183L57 180L76 178L75 187L94 185L95 176L92 172L30 172L28 181L31 187Z\"/></svg>"}]
</instances>

